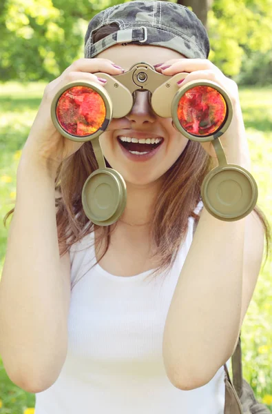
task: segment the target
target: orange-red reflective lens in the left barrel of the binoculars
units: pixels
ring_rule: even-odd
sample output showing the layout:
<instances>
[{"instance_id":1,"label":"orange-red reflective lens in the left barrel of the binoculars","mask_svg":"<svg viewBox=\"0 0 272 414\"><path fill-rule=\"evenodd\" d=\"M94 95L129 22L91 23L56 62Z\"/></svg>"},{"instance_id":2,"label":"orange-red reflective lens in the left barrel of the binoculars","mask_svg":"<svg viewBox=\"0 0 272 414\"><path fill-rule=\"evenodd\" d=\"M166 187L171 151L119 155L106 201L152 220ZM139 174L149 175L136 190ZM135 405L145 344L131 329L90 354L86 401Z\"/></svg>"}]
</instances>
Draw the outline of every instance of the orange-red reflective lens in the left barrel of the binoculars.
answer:
<instances>
[{"instance_id":1,"label":"orange-red reflective lens in the left barrel of the binoculars","mask_svg":"<svg viewBox=\"0 0 272 414\"><path fill-rule=\"evenodd\" d=\"M94 134L105 121L106 108L101 95L87 86L65 90L56 104L56 118L71 135Z\"/></svg>"}]
</instances>

